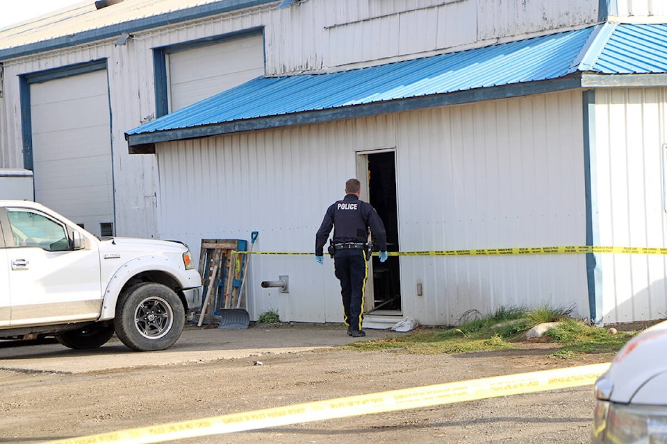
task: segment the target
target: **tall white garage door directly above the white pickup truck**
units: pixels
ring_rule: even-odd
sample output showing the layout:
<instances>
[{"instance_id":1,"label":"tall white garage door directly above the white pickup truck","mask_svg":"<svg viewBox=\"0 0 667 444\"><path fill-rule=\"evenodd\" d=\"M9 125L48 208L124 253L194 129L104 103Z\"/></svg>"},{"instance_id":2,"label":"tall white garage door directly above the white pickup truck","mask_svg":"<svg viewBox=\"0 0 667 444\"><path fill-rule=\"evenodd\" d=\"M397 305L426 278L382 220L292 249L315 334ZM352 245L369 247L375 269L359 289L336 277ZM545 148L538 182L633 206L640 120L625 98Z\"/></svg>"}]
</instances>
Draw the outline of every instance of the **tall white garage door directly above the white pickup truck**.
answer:
<instances>
[{"instance_id":1,"label":"tall white garage door directly above the white pickup truck","mask_svg":"<svg viewBox=\"0 0 667 444\"><path fill-rule=\"evenodd\" d=\"M113 175L106 70L33 83L30 99L35 200L94 234L110 234Z\"/></svg>"}]
</instances>

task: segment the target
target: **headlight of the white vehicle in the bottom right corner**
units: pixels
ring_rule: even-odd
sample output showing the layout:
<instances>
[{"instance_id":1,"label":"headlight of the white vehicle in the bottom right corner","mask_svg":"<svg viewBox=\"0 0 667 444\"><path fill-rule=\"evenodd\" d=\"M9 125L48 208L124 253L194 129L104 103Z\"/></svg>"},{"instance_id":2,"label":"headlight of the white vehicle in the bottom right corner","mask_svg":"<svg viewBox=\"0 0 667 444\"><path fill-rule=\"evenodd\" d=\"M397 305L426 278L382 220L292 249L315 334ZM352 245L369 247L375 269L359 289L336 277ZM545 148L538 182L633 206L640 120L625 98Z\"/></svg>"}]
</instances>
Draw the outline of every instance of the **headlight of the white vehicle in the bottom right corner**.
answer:
<instances>
[{"instance_id":1,"label":"headlight of the white vehicle in the bottom right corner","mask_svg":"<svg viewBox=\"0 0 667 444\"><path fill-rule=\"evenodd\" d=\"M598 400L593 443L667 443L667 409Z\"/></svg>"}]
</instances>

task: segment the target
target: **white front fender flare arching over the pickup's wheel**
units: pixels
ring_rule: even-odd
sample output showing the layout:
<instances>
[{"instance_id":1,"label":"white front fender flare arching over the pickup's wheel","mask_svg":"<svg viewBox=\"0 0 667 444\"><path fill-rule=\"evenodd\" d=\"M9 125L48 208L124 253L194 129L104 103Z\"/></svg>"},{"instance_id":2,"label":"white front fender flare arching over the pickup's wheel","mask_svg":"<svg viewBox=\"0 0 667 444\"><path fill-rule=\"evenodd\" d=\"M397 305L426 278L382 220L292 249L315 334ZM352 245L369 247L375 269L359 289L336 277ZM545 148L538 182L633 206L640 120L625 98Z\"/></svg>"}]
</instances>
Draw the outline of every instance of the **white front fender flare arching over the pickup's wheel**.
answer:
<instances>
[{"instance_id":1,"label":"white front fender flare arching over the pickup's wheel","mask_svg":"<svg viewBox=\"0 0 667 444\"><path fill-rule=\"evenodd\" d=\"M170 275L174 281L178 282L176 275L178 275L178 265L176 267L170 264L168 257L160 255L147 255L135 257L129 262L126 262L116 270L104 291L104 300L102 302L102 311L99 317L100 321L113 319L116 316L116 302L120 297L120 292L129 280L134 276L144 273L146 271L157 271Z\"/></svg>"}]
</instances>

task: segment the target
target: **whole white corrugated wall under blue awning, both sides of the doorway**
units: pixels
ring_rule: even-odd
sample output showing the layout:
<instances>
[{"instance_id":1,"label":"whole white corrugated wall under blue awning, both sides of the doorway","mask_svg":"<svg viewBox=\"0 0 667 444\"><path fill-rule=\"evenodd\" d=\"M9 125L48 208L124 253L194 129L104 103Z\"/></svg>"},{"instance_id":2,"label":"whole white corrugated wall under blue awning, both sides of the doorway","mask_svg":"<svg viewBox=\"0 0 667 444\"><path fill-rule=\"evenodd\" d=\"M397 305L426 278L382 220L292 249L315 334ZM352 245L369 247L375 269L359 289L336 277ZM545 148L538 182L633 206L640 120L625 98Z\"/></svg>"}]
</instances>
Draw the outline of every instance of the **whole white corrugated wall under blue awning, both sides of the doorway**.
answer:
<instances>
[{"instance_id":1,"label":"whole white corrugated wall under blue awning, both sides of the doorway","mask_svg":"<svg viewBox=\"0 0 667 444\"><path fill-rule=\"evenodd\" d=\"M163 144L160 237L192 247L258 230L256 250L311 252L324 210L355 175L355 151L395 147L403 250L582 244L581 103L568 92ZM254 318L274 308L286 321L342 320L329 259L252 260ZM402 257L401 266L403 314L421 323L539 302L588 316L583 255ZM285 274L290 293L261 289Z\"/></svg>"}]
</instances>

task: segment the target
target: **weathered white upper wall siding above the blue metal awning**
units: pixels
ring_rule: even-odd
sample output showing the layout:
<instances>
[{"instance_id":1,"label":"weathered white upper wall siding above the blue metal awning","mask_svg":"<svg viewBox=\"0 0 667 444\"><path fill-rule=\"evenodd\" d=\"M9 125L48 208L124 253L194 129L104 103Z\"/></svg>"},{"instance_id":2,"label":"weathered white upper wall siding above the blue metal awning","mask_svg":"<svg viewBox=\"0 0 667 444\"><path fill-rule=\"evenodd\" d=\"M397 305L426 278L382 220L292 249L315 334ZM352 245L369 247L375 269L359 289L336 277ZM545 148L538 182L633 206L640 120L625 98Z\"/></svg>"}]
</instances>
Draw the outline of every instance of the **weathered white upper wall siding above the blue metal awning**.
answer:
<instances>
[{"instance_id":1,"label":"weathered white upper wall siding above the blue metal awning","mask_svg":"<svg viewBox=\"0 0 667 444\"><path fill-rule=\"evenodd\" d=\"M272 15L267 26L267 53L280 54L267 65L270 75L377 64L581 27L597 22L598 0L336 0L286 11Z\"/></svg>"}]
</instances>

